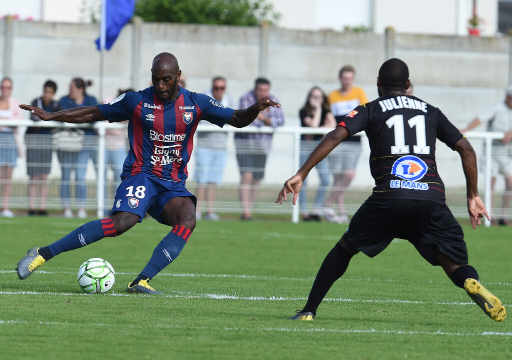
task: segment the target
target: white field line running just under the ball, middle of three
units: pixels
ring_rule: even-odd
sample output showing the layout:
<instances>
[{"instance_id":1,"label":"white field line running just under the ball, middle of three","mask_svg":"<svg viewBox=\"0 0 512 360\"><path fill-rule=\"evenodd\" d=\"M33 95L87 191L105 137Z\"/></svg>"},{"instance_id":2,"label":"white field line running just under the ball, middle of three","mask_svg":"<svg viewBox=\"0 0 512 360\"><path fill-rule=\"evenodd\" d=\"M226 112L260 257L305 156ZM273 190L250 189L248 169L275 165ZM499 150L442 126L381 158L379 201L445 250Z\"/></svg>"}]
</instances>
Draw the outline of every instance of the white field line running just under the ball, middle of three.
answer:
<instances>
[{"instance_id":1,"label":"white field line running just under the ball, middle of three","mask_svg":"<svg viewBox=\"0 0 512 360\"><path fill-rule=\"evenodd\" d=\"M242 301L306 301L307 298L289 298L282 296L238 296L236 294L200 294L190 291L169 291L170 295L164 295L165 298L179 298L179 299L212 299L212 300L242 300ZM86 292L51 292L51 291L0 291L0 295L51 295L51 296L94 296L94 294L87 294ZM102 296L117 296L117 297L151 297L151 295L143 294L119 294L117 292L109 292ZM346 298L325 298L324 301L337 301L349 303L375 303L375 304L435 304L435 305L475 305L473 302L428 302L418 300L398 300L398 299L346 299ZM506 304L504 304L506 306Z\"/></svg>"}]
</instances>

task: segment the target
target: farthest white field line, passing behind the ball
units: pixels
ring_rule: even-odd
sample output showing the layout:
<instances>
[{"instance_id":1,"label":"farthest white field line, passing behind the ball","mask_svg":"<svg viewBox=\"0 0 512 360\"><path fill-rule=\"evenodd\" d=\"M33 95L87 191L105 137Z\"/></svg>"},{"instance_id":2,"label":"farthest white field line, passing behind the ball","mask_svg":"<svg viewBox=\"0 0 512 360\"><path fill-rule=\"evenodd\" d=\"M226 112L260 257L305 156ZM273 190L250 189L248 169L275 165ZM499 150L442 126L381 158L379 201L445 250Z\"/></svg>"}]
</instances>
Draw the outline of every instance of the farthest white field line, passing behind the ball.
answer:
<instances>
[{"instance_id":1,"label":"farthest white field line, passing behind the ball","mask_svg":"<svg viewBox=\"0 0 512 360\"><path fill-rule=\"evenodd\" d=\"M14 270L6 270L0 269L0 274L10 274L15 273ZM55 274L75 274L73 272L65 272L65 271L44 271L38 270L37 274L47 274L47 275L55 275ZM139 275L138 273L126 273L126 272L117 272L116 275ZM173 273L160 273L157 276L171 276L177 278L232 278L232 279L256 279L256 280L285 280L285 281L311 281L314 280L314 277L306 277L306 278L288 278L288 277L279 277L279 276L258 276L258 275L232 275L232 274L173 274ZM403 280L393 280L393 279L372 279L372 278L341 278L338 281L368 281L368 282L399 282L403 283ZM432 282L432 281L431 281ZM414 281L417 283L417 281ZM452 283L448 280L443 280L441 283ZM485 282L485 285L501 285L501 286L512 286L512 283L509 282Z\"/></svg>"}]
</instances>

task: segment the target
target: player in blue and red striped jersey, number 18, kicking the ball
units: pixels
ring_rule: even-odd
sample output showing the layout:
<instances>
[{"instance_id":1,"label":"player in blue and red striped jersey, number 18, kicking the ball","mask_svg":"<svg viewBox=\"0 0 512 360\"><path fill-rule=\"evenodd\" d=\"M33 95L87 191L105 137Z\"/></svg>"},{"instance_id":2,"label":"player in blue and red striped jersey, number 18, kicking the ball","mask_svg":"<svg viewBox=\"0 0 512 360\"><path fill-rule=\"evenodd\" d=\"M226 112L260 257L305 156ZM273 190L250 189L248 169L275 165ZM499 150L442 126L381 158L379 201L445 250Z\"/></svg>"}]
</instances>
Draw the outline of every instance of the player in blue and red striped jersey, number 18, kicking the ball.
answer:
<instances>
[{"instance_id":1,"label":"player in blue and red striped jersey, number 18, kicking the ball","mask_svg":"<svg viewBox=\"0 0 512 360\"><path fill-rule=\"evenodd\" d=\"M121 235L141 222L147 212L172 230L160 241L150 261L126 290L162 294L148 281L176 259L196 227L196 197L185 188L185 180L199 121L204 119L220 127L229 124L241 128L269 106L281 106L264 97L245 109L233 110L206 95L178 86L180 76L176 57L161 53L153 59L153 86L122 94L109 104L57 113L19 105L42 120L81 124L128 119L130 140L130 152L124 161L111 216L83 224L48 246L30 249L18 262L16 271L20 279L28 277L55 255L104 237Z\"/></svg>"}]
</instances>

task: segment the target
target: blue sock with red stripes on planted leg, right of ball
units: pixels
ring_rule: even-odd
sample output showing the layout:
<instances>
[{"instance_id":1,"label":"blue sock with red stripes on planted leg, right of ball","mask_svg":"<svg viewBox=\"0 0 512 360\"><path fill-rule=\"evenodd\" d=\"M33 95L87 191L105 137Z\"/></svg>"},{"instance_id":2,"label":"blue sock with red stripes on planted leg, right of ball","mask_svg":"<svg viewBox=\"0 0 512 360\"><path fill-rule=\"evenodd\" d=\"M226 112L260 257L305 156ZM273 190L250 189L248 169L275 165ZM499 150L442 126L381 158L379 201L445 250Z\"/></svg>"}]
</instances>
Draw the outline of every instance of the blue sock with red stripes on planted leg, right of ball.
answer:
<instances>
[{"instance_id":1,"label":"blue sock with red stripes on planted leg, right of ball","mask_svg":"<svg viewBox=\"0 0 512 360\"><path fill-rule=\"evenodd\" d=\"M152 279L162 269L173 262L185 246L192 232L181 225L175 225L162 241L155 247L153 255L140 275Z\"/></svg>"}]
</instances>

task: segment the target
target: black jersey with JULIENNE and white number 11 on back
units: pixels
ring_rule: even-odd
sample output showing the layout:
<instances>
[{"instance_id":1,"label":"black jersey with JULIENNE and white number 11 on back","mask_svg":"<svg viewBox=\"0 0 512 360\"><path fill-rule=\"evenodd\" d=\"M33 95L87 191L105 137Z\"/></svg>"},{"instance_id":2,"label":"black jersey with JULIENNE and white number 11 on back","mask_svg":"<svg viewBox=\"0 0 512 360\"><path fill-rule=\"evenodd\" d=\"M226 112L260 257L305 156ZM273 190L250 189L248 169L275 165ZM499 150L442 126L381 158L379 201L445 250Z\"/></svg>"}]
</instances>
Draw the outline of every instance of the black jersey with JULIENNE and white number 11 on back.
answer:
<instances>
[{"instance_id":1,"label":"black jersey with JULIENNE and white number 11 on back","mask_svg":"<svg viewBox=\"0 0 512 360\"><path fill-rule=\"evenodd\" d=\"M382 96L356 107L338 126L350 135L366 132L374 195L445 204L436 139L454 149L463 135L437 107L414 96Z\"/></svg>"}]
</instances>

